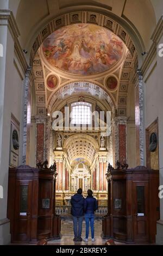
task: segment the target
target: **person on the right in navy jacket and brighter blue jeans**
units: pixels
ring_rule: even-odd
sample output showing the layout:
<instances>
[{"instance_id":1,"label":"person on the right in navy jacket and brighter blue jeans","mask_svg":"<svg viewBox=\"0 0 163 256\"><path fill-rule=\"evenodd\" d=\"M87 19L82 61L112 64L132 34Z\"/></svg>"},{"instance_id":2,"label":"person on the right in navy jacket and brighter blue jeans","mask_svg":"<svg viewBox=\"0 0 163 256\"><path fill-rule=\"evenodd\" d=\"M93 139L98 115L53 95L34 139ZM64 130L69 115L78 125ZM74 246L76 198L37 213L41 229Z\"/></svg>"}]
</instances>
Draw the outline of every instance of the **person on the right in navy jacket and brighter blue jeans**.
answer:
<instances>
[{"instance_id":1,"label":"person on the right in navy jacket and brighter blue jeans","mask_svg":"<svg viewBox=\"0 0 163 256\"><path fill-rule=\"evenodd\" d=\"M84 200L84 211L85 211L85 224L86 224L86 234L84 241L88 241L89 237L89 224L91 225L91 237L92 242L95 241L94 237L94 219L95 219L95 211L98 209L97 200L92 196L92 190L87 191L87 197Z\"/></svg>"}]
</instances>

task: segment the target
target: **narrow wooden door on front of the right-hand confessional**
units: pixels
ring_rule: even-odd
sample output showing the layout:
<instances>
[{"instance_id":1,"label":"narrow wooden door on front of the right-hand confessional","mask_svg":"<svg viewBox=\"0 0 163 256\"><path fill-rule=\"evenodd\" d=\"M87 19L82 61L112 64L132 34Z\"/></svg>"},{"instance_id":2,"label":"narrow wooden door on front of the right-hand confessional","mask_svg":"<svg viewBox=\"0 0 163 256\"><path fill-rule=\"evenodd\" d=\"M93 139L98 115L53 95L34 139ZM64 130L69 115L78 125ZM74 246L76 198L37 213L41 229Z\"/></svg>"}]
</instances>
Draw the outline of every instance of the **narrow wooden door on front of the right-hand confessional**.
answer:
<instances>
[{"instance_id":1,"label":"narrow wooden door on front of the right-hand confessional","mask_svg":"<svg viewBox=\"0 0 163 256\"><path fill-rule=\"evenodd\" d=\"M148 182L133 182L134 241L149 241Z\"/></svg>"}]
</instances>

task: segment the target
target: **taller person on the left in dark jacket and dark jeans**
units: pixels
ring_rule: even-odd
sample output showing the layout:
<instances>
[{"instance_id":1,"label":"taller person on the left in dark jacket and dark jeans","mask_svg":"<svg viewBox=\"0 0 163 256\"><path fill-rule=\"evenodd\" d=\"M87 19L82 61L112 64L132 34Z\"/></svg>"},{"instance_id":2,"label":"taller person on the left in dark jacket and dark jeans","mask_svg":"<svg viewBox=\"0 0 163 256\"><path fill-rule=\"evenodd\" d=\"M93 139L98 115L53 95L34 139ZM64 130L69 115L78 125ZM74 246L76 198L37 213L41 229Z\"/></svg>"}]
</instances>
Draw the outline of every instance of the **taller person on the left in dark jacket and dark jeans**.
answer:
<instances>
[{"instance_id":1,"label":"taller person on the left in dark jacket and dark jeans","mask_svg":"<svg viewBox=\"0 0 163 256\"><path fill-rule=\"evenodd\" d=\"M82 239L82 223L84 216L84 197L82 196L82 188L79 188L77 194L71 197L71 214L73 216L73 241L83 241Z\"/></svg>"}]
</instances>

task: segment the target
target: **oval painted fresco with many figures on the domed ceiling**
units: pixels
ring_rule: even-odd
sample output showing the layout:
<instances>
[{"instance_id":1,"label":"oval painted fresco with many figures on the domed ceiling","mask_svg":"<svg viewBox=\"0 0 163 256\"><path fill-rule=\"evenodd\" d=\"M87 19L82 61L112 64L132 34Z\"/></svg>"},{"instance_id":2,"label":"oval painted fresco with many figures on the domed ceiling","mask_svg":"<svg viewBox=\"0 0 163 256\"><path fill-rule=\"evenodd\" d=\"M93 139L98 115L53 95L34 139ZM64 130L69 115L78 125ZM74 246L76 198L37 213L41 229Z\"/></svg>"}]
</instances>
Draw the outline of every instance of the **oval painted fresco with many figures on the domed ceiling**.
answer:
<instances>
[{"instance_id":1,"label":"oval painted fresco with many figures on the domed ceiling","mask_svg":"<svg viewBox=\"0 0 163 256\"><path fill-rule=\"evenodd\" d=\"M114 66L123 54L123 42L106 28L74 24L52 33L42 52L53 68L68 74L94 75Z\"/></svg>"}]
</instances>

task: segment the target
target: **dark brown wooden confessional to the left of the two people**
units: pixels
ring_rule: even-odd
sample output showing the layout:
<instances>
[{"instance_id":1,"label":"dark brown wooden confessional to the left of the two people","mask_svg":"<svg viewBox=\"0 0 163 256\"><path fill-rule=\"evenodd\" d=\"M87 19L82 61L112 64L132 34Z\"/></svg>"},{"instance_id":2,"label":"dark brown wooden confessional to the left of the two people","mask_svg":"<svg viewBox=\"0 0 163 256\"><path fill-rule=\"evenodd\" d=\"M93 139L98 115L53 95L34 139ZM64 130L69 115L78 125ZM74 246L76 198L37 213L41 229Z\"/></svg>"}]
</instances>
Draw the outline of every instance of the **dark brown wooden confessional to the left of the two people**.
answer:
<instances>
[{"instance_id":1,"label":"dark brown wooden confessional to the left of the two people","mask_svg":"<svg viewBox=\"0 0 163 256\"><path fill-rule=\"evenodd\" d=\"M9 169L11 242L60 238L60 217L55 215L56 175L48 168L20 166Z\"/></svg>"}]
</instances>

